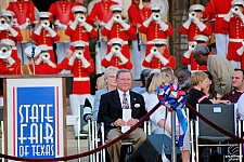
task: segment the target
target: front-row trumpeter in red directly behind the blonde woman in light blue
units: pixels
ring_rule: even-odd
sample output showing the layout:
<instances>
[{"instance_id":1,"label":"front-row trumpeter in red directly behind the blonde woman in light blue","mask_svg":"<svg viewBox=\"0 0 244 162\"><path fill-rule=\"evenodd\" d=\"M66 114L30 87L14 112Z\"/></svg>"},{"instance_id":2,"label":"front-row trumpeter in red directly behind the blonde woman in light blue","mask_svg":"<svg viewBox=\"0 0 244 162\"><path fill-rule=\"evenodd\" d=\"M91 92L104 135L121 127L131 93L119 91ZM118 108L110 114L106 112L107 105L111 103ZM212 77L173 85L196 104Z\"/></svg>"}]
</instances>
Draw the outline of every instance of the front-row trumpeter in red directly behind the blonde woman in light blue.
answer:
<instances>
[{"instance_id":1,"label":"front-row trumpeter in red directly behind the blonde woman in light blue","mask_svg":"<svg viewBox=\"0 0 244 162\"><path fill-rule=\"evenodd\" d=\"M124 41L119 38L112 39L108 44L112 45L111 52L102 59L102 66L107 68L108 66L117 67L118 69L131 69L130 54L123 53Z\"/></svg>"}]
</instances>

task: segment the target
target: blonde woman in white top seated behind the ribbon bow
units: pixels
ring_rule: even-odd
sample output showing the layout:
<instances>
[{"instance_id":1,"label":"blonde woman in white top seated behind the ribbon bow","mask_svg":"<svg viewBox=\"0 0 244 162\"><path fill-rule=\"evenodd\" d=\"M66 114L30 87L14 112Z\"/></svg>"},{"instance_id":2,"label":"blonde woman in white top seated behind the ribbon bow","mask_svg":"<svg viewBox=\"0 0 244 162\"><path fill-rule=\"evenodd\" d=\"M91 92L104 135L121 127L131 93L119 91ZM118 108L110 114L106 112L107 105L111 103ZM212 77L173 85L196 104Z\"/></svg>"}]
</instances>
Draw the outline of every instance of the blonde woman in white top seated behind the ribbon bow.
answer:
<instances>
[{"instance_id":1,"label":"blonde woman in white top seated behind the ribbon bow","mask_svg":"<svg viewBox=\"0 0 244 162\"><path fill-rule=\"evenodd\" d=\"M149 86L149 96L145 100L145 107L147 111L150 111L154 106L158 103L156 87L164 82L164 84L169 84L171 81L171 76L166 72L155 73L153 76L152 82ZM182 110L183 114L184 110ZM167 114L167 117L166 117ZM187 117L185 117L187 118ZM167 112L167 108L165 106L160 106L151 117L150 120L152 122L152 133L153 134L166 134L171 137L171 112ZM176 122L176 130L180 130L179 122ZM180 132L177 132L180 135ZM189 161L189 151L190 151L190 134L189 131L185 133L183 147L181 148L181 157L182 162Z\"/></svg>"}]
</instances>

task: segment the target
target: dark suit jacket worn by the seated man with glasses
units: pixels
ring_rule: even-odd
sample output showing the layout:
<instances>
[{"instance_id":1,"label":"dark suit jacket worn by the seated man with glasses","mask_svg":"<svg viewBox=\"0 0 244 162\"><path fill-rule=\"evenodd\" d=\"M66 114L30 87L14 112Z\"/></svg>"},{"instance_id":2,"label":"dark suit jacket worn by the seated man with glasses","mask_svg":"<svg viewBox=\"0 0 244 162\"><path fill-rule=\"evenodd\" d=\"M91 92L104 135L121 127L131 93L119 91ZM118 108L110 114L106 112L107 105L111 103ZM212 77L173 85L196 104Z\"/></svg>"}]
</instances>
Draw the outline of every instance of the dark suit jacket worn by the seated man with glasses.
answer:
<instances>
[{"instance_id":1,"label":"dark suit jacket worn by the seated man with glasses","mask_svg":"<svg viewBox=\"0 0 244 162\"><path fill-rule=\"evenodd\" d=\"M136 107L134 107L136 106ZM142 95L130 91L130 108L132 109L131 118L140 120L146 114L145 103ZM105 134L114 129L111 124L117 119L123 119L123 108L118 91L112 91L101 96L98 122L103 122Z\"/></svg>"}]
</instances>

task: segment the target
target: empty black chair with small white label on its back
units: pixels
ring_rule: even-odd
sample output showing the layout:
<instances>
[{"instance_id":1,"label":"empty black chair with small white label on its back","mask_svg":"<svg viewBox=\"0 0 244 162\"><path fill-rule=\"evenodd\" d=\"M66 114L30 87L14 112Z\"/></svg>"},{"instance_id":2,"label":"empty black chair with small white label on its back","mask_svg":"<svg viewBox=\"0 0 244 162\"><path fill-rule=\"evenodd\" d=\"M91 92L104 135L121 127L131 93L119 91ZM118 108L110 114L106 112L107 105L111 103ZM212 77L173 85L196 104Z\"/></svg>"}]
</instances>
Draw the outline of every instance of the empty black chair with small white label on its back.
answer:
<instances>
[{"instance_id":1,"label":"empty black chair with small white label on its back","mask_svg":"<svg viewBox=\"0 0 244 162\"><path fill-rule=\"evenodd\" d=\"M208 120L224 129L226 131L236 135L236 109L232 105L207 105L197 104L196 110L206 117ZM222 147L233 146L233 140L215 130L200 118L195 121L195 154L196 161L200 159L198 147L219 147L221 153ZM241 157L241 154L239 154ZM228 154L223 153L223 159L229 158Z\"/></svg>"}]
</instances>

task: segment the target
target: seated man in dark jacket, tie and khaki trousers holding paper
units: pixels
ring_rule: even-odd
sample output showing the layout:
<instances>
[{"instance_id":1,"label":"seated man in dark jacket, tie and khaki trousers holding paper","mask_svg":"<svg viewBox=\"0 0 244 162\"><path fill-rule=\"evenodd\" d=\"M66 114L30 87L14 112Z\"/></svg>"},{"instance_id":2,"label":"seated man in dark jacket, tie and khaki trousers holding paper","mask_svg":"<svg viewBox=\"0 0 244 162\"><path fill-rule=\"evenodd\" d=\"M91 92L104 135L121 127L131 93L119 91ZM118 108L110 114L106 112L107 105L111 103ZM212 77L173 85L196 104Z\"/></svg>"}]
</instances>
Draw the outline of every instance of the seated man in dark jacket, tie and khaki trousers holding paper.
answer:
<instances>
[{"instance_id":1,"label":"seated man in dark jacket, tie and khaki trousers holding paper","mask_svg":"<svg viewBox=\"0 0 244 162\"><path fill-rule=\"evenodd\" d=\"M98 117L98 122L104 122L108 141L121 135L125 126L133 126L146 113L143 97L129 91L132 81L130 71L128 69L118 70L116 79L117 90L102 95ZM123 120L125 111L131 112L131 118L127 121ZM127 138L134 140L132 145L132 151L134 151L145 140L146 135L142 127L137 127ZM119 161L120 147L121 141L108 147L112 162Z\"/></svg>"}]
</instances>

